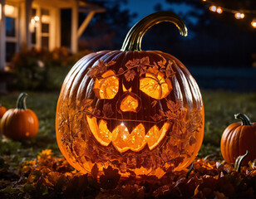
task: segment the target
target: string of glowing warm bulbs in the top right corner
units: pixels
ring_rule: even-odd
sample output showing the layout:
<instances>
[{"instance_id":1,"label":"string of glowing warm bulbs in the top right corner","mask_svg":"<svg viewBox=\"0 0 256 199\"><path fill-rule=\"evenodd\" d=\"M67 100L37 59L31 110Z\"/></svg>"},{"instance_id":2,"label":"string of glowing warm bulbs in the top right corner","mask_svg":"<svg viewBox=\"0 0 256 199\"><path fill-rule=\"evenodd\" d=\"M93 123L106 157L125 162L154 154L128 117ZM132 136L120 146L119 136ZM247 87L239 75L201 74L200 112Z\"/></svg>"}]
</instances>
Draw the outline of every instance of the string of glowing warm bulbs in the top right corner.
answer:
<instances>
[{"instance_id":1,"label":"string of glowing warm bulbs in the top right corner","mask_svg":"<svg viewBox=\"0 0 256 199\"><path fill-rule=\"evenodd\" d=\"M243 19L246 15L256 15L256 10L243 10L243 11L239 11L239 10L233 10L233 9L229 9L227 7L217 7L216 5L214 5L215 3L210 1L210 0L202 0L203 2L209 2L211 4L211 6L209 7L209 10L211 12L217 12L219 14L221 14L222 12L229 12L229 13L233 13L234 17L236 19ZM256 18L254 18L254 20L251 22L252 27L256 28Z\"/></svg>"}]
</instances>

